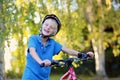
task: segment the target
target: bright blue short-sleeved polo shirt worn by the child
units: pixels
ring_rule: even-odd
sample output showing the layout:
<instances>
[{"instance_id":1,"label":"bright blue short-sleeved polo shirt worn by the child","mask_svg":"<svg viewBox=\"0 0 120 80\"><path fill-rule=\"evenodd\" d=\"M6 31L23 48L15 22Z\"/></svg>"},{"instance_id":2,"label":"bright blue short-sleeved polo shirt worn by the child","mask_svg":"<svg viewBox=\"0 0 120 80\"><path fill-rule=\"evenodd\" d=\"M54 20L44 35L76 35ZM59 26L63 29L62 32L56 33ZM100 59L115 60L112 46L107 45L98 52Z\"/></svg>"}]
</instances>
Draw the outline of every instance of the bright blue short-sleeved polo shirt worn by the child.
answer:
<instances>
[{"instance_id":1,"label":"bright blue short-sleeved polo shirt worn by the child","mask_svg":"<svg viewBox=\"0 0 120 80\"><path fill-rule=\"evenodd\" d=\"M62 45L52 38L49 38L44 46L39 35L32 35L29 38L28 49L34 47L40 59L52 60L52 57L58 54ZM27 52L27 63L22 80L50 80L51 67L40 67L35 59L32 58L29 51Z\"/></svg>"}]
</instances>

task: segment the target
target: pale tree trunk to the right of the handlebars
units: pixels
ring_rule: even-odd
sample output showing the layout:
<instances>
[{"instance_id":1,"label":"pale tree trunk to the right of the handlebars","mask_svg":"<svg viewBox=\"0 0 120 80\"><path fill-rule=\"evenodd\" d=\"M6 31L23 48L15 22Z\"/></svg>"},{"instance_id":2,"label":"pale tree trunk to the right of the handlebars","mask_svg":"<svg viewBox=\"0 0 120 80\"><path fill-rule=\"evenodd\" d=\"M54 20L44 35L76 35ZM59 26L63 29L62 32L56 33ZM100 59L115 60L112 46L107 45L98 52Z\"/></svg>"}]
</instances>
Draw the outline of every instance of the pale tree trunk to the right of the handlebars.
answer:
<instances>
[{"instance_id":1,"label":"pale tree trunk to the right of the handlebars","mask_svg":"<svg viewBox=\"0 0 120 80\"><path fill-rule=\"evenodd\" d=\"M98 6L101 8L101 3L98 0ZM105 54L104 54L104 48L103 48L103 35L102 35L102 25L99 25L98 29L96 30L93 23L94 23L94 12L93 12L93 0L87 1L87 8L86 8L86 14L88 19L88 30L92 37L92 46L95 53L95 64L96 64L96 73L98 77L106 77L105 72ZM101 10L101 9L99 9ZM97 10L98 11L98 10ZM100 11L101 12L101 11ZM101 12L102 13L102 12ZM101 14L102 15L102 14ZM100 23L98 23L100 24Z\"/></svg>"}]
</instances>

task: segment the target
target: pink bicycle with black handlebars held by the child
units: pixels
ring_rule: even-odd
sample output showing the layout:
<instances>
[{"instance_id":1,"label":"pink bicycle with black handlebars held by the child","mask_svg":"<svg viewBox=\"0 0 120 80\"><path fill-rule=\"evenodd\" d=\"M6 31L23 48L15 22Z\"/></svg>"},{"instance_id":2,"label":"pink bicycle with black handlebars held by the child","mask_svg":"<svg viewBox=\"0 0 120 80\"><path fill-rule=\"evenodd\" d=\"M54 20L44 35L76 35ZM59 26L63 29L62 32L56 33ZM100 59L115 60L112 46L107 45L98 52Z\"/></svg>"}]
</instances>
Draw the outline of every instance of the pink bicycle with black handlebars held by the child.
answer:
<instances>
[{"instance_id":1,"label":"pink bicycle with black handlebars held by the child","mask_svg":"<svg viewBox=\"0 0 120 80\"><path fill-rule=\"evenodd\" d=\"M74 57L74 58L67 58L64 60L52 60L51 66L60 67L65 65L68 67L68 71L60 78L60 80L78 80L72 62L86 61L86 60L89 60L87 55L83 56L82 58ZM41 66L44 67L44 64L42 64Z\"/></svg>"}]
</instances>

